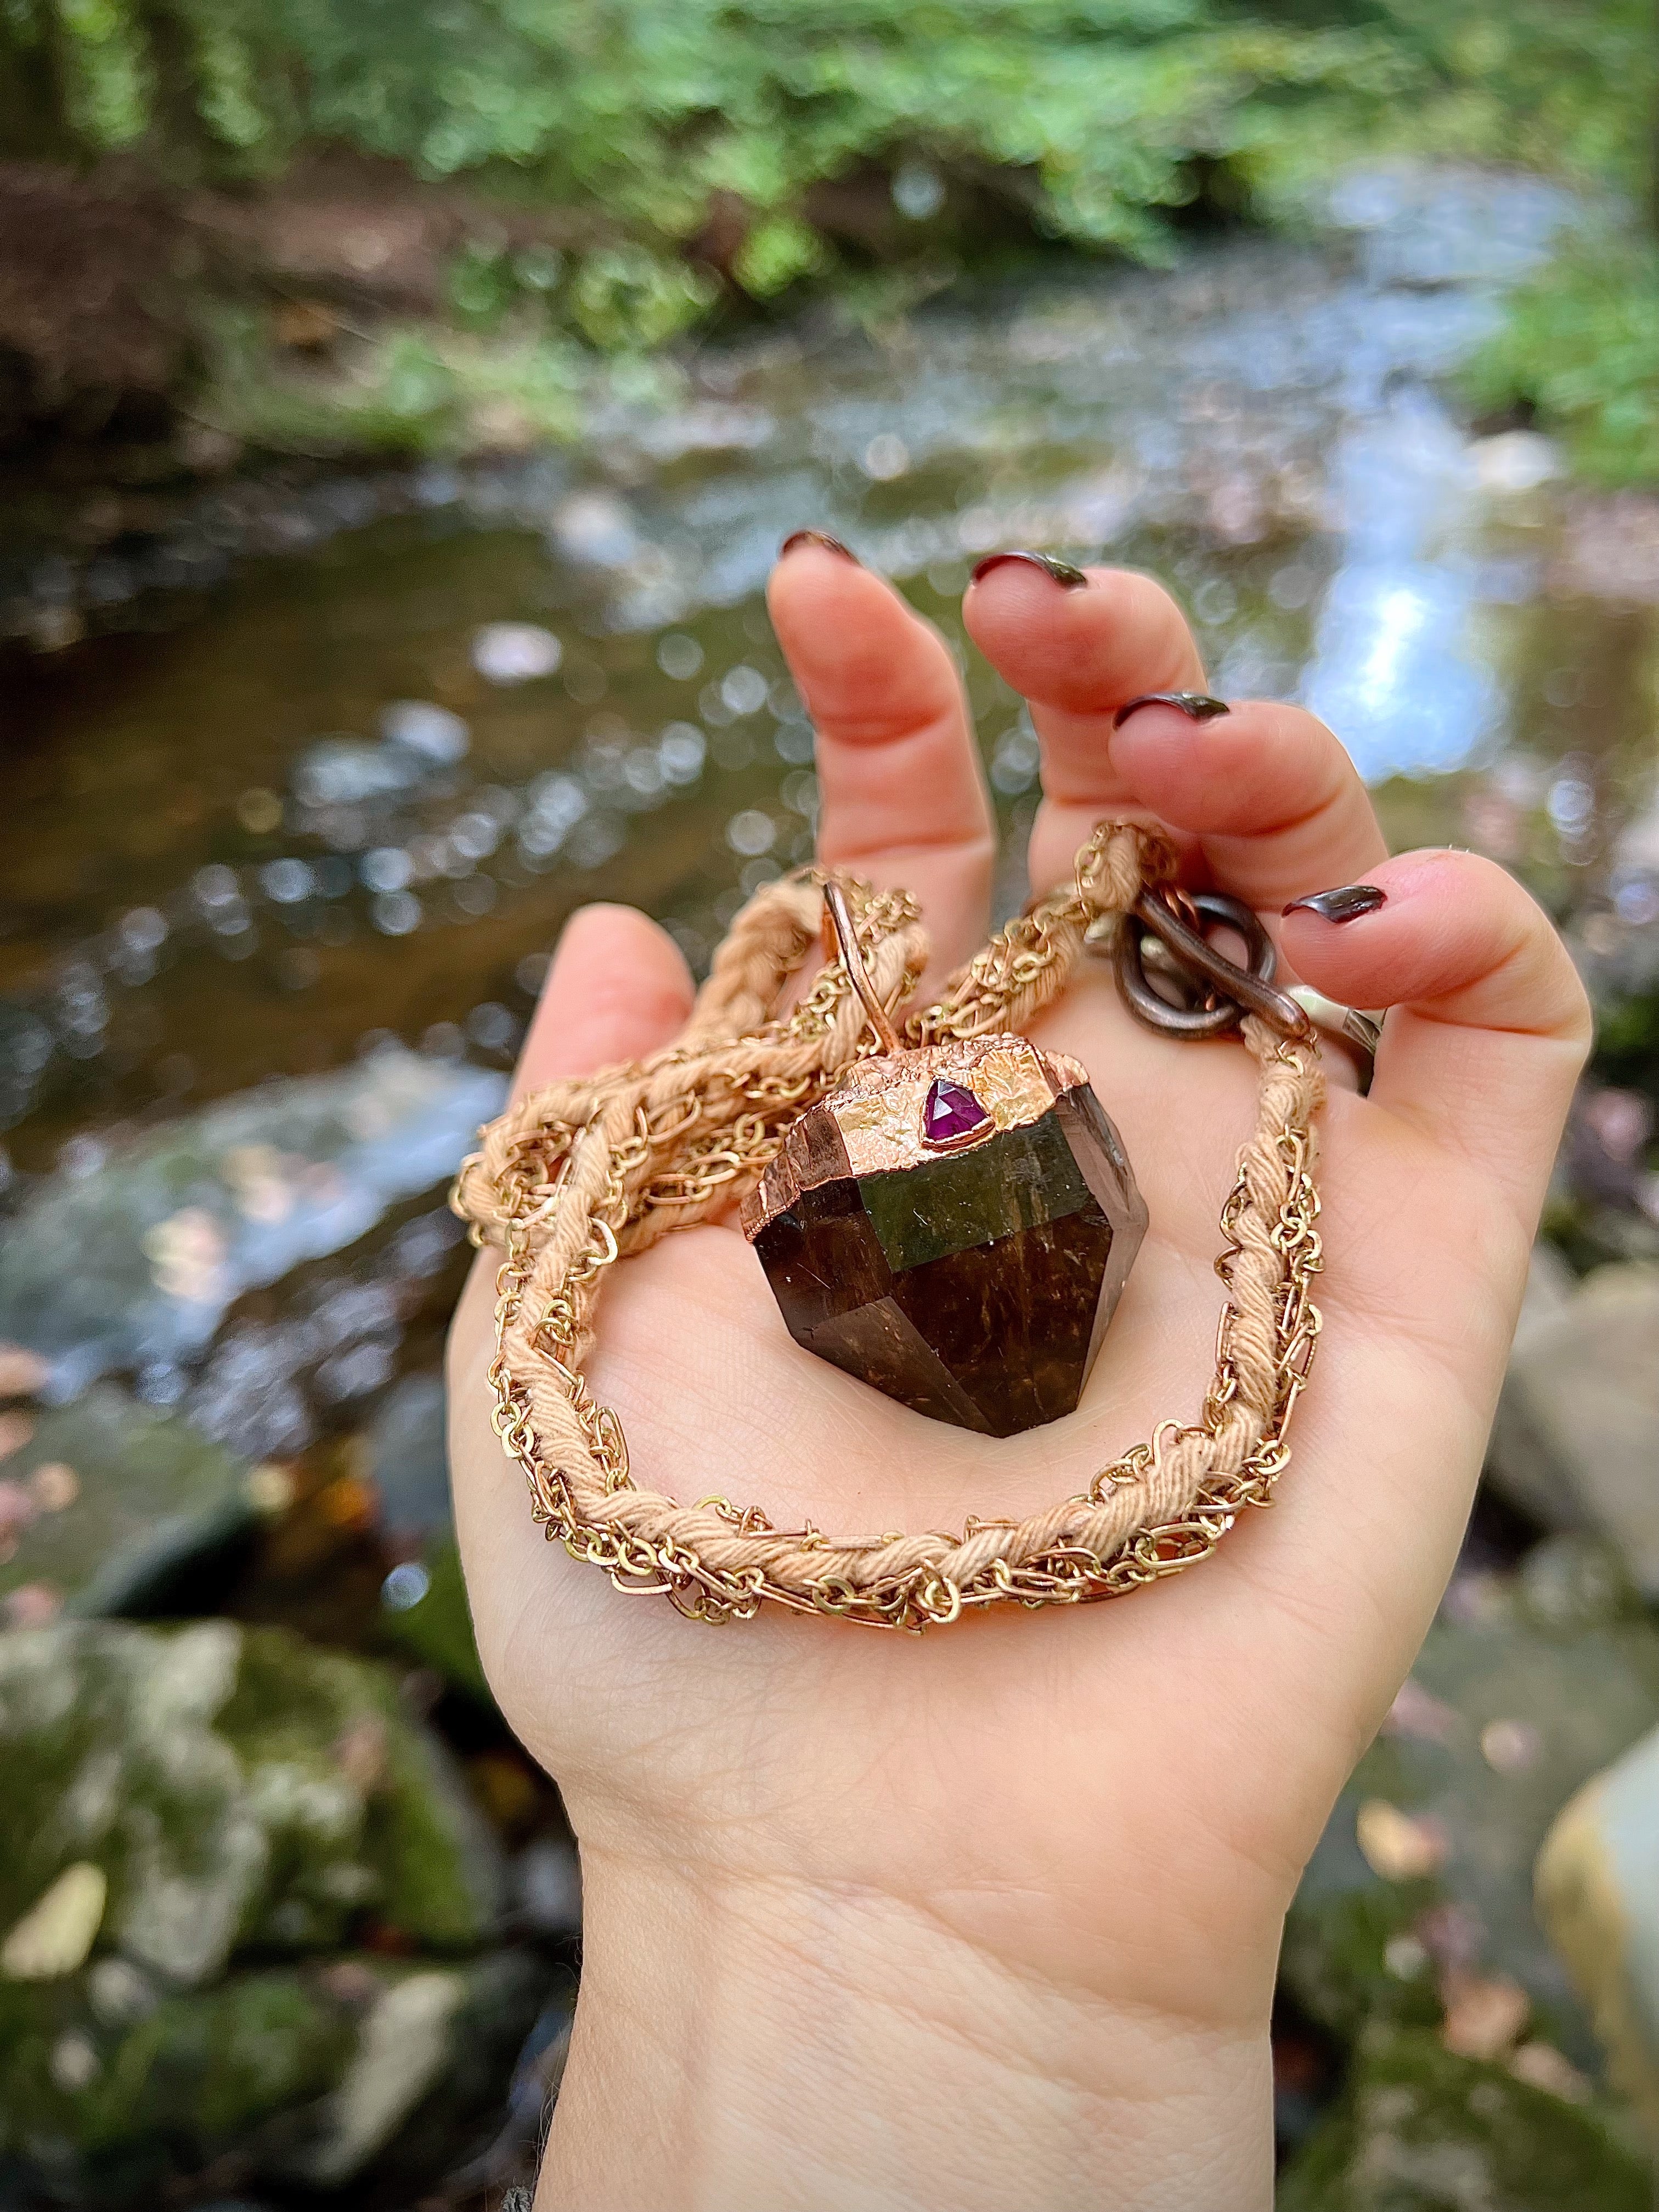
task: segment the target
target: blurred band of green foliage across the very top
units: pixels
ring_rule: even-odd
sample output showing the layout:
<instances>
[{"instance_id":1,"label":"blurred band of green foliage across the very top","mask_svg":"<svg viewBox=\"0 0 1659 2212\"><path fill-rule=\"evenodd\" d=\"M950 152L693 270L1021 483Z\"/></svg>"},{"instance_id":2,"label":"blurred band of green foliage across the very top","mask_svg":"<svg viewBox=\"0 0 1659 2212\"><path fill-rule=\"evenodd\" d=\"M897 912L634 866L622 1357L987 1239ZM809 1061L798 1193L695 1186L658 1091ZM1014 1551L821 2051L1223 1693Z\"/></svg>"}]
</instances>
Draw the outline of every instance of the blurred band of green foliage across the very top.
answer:
<instances>
[{"instance_id":1,"label":"blurred band of green foliage across the very top","mask_svg":"<svg viewBox=\"0 0 1659 2212\"><path fill-rule=\"evenodd\" d=\"M907 157L1164 257L1206 175L1272 190L1334 146L1632 179L1652 80L1646 0L9 0L7 44L51 53L88 150L511 168L659 243L734 195L759 294L818 265L814 184Z\"/></svg>"}]
</instances>

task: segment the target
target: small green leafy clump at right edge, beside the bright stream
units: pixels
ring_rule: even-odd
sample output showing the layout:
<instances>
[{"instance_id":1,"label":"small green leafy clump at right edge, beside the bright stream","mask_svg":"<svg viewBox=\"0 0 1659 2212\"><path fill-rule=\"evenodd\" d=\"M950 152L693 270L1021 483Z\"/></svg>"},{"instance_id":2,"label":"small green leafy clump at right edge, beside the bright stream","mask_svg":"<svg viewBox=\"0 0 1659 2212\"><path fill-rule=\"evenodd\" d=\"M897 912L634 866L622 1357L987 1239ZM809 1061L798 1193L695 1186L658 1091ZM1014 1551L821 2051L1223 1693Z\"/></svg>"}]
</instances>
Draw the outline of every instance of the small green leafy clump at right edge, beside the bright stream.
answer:
<instances>
[{"instance_id":1,"label":"small green leafy clump at right edge, beside the bright stream","mask_svg":"<svg viewBox=\"0 0 1659 2212\"><path fill-rule=\"evenodd\" d=\"M1531 409L1593 482L1659 482L1659 246L1575 239L1513 294L1467 389Z\"/></svg>"}]
</instances>

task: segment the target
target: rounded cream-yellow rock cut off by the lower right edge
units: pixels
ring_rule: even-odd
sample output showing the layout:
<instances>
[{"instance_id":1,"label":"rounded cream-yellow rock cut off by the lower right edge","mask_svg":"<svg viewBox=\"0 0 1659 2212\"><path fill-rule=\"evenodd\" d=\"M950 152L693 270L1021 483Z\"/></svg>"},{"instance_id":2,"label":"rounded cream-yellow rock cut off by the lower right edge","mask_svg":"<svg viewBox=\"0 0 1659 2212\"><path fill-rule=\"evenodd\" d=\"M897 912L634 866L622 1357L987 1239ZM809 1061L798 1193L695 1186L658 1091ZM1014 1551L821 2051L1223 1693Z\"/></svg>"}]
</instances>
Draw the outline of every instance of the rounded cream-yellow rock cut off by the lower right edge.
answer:
<instances>
[{"instance_id":1,"label":"rounded cream-yellow rock cut off by the lower right edge","mask_svg":"<svg viewBox=\"0 0 1659 2212\"><path fill-rule=\"evenodd\" d=\"M1659 1730L1566 1805L1537 1858L1537 1911L1659 2148Z\"/></svg>"}]
</instances>

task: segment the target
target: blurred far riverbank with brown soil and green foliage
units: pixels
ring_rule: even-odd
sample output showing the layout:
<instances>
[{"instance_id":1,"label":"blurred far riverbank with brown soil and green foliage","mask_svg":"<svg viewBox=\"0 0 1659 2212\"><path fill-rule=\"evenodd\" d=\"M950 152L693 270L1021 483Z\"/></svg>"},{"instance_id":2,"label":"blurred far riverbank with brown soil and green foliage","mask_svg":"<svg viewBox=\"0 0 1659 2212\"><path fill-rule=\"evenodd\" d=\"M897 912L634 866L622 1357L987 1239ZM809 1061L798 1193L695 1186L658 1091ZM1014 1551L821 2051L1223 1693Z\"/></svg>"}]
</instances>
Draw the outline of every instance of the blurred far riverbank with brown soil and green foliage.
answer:
<instances>
[{"instance_id":1,"label":"blurred far riverbank with brown soil and green foliage","mask_svg":"<svg viewBox=\"0 0 1659 2212\"><path fill-rule=\"evenodd\" d=\"M591 434L688 336L880 330L1064 261L1305 234L1347 164L1531 166L1595 210L1471 374L1586 480L1659 478L1646 0L1004 7L153 0L0 27L0 453L71 484Z\"/></svg>"}]
</instances>

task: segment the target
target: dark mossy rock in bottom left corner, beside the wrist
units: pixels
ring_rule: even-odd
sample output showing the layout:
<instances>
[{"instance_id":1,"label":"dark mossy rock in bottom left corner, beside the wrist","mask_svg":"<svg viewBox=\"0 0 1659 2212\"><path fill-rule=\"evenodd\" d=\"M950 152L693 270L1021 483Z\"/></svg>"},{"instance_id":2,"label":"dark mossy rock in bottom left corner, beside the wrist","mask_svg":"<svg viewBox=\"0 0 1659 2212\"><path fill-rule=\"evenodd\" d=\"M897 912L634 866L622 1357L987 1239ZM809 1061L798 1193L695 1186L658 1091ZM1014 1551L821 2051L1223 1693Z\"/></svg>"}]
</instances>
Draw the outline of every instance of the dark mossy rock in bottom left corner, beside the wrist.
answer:
<instances>
[{"instance_id":1,"label":"dark mossy rock in bottom left corner, beside the wrist","mask_svg":"<svg viewBox=\"0 0 1659 2212\"><path fill-rule=\"evenodd\" d=\"M0 2161L69 2205L150 2212L179 2174L418 2188L498 2126L555 1975L529 1953L343 1955L153 1984L0 1984Z\"/></svg>"}]
</instances>

